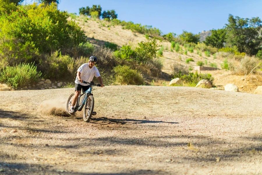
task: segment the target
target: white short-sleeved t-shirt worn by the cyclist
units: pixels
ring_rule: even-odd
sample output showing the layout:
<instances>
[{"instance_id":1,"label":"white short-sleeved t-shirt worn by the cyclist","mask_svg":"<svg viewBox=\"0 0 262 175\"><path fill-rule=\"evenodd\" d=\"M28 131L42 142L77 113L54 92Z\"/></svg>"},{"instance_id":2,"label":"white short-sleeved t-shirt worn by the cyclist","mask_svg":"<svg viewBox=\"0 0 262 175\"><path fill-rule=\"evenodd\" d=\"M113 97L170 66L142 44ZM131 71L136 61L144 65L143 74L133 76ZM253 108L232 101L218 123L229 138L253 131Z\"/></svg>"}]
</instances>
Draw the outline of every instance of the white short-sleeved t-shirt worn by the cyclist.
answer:
<instances>
[{"instance_id":1,"label":"white short-sleeved t-shirt worn by the cyclist","mask_svg":"<svg viewBox=\"0 0 262 175\"><path fill-rule=\"evenodd\" d=\"M81 79L83 81L88 82L88 83L90 83L93 80L94 76L95 77L99 77L100 76L98 69L95 66L93 66L90 69L88 63L82 64L77 69L77 71L79 71L81 73L81 75L80 75ZM84 83L81 83L80 81L78 81L77 77L75 78L75 83L83 85L83 86L88 86L87 84L84 84Z\"/></svg>"}]
</instances>

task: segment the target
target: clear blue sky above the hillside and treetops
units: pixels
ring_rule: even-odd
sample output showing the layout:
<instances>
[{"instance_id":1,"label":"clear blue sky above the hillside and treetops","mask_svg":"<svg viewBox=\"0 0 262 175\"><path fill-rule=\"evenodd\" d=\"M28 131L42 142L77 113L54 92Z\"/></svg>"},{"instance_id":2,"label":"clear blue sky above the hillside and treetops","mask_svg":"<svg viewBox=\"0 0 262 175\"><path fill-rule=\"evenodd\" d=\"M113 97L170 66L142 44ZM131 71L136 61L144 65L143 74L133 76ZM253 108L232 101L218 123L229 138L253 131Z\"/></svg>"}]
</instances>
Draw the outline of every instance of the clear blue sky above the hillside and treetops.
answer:
<instances>
[{"instance_id":1,"label":"clear blue sky above the hillside and treetops","mask_svg":"<svg viewBox=\"0 0 262 175\"><path fill-rule=\"evenodd\" d=\"M220 29L228 15L242 18L262 18L260 0L61 0L58 8L79 13L80 7L101 5L103 10L114 9L119 20L132 21L159 28L163 34L183 30L197 34L203 30Z\"/></svg>"}]
</instances>

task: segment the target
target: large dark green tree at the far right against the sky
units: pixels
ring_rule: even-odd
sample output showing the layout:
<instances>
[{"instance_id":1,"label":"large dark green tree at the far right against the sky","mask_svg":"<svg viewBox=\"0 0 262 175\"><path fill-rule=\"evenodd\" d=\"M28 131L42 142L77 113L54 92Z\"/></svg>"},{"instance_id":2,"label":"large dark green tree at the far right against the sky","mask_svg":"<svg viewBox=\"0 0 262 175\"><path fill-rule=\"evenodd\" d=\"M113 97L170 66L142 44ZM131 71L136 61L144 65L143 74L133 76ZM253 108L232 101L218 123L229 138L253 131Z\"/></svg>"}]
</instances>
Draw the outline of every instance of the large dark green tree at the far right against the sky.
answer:
<instances>
[{"instance_id":1,"label":"large dark green tree at the far right against the sky","mask_svg":"<svg viewBox=\"0 0 262 175\"><path fill-rule=\"evenodd\" d=\"M259 17L244 19L229 14L226 24L226 44L229 47L237 46L239 52L255 55L262 43L261 28L262 21Z\"/></svg>"}]
</instances>

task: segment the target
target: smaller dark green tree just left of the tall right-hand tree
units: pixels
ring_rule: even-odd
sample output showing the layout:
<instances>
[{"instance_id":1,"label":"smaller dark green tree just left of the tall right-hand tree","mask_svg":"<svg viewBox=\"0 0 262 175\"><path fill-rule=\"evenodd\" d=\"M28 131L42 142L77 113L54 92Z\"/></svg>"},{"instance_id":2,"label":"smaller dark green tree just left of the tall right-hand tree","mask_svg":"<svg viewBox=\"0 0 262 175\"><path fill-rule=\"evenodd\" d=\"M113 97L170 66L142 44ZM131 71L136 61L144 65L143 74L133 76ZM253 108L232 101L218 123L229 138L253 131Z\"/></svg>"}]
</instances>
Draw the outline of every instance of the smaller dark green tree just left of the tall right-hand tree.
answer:
<instances>
[{"instance_id":1,"label":"smaller dark green tree just left of the tall right-hand tree","mask_svg":"<svg viewBox=\"0 0 262 175\"><path fill-rule=\"evenodd\" d=\"M212 46L215 48L222 48L226 42L226 29L213 29L211 30L211 36L206 37L204 43L207 46Z\"/></svg>"}]
</instances>

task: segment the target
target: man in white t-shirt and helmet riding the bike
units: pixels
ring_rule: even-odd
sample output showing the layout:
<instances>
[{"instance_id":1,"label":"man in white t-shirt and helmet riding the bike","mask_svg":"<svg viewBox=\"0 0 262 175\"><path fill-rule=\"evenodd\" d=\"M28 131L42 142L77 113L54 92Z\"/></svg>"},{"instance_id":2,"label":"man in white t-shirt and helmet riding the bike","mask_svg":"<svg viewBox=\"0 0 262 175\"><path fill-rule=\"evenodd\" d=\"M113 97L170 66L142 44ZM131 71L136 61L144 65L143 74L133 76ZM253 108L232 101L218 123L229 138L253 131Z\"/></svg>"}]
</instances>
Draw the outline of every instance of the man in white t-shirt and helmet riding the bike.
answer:
<instances>
[{"instance_id":1,"label":"man in white t-shirt and helmet riding the bike","mask_svg":"<svg viewBox=\"0 0 262 175\"><path fill-rule=\"evenodd\" d=\"M91 56L89 58L89 62L82 64L77 69L77 77L75 78L75 96L72 100L71 108L69 110L69 113L74 114L75 113L75 104L77 101L78 96L80 95L81 89L83 92L89 89L90 85L84 84L83 80L90 83L94 76L98 79L101 87L103 87L102 78L99 74L98 69L94 66L97 62L97 58L95 56Z\"/></svg>"}]
</instances>

